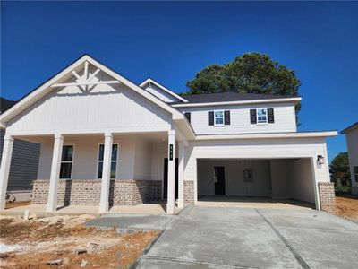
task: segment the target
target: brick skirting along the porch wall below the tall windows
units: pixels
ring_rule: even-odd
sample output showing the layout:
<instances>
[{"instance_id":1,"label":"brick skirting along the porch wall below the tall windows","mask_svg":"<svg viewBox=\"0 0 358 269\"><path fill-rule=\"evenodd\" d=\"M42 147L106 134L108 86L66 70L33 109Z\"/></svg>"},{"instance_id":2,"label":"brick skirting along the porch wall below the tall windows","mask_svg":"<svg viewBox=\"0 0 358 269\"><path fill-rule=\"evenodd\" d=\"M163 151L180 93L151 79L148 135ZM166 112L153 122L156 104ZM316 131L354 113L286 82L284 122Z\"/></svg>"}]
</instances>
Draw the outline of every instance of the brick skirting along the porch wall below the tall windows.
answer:
<instances>
[{"instance_id":1,"label":"brick skirting along the porch wall below the tall windows","mask_svg":"<svg viewBox=\"0 0 358 269\"><path fill-rule=\"evenodd\" d=\"M32 203L47 204L49 180L33 181ZM98 205L100 179L60 179L57 192L58 205ZM109 205L136 205L161 199L162 182L159 180L111 180Z\"/></svg>"}]
</instances>

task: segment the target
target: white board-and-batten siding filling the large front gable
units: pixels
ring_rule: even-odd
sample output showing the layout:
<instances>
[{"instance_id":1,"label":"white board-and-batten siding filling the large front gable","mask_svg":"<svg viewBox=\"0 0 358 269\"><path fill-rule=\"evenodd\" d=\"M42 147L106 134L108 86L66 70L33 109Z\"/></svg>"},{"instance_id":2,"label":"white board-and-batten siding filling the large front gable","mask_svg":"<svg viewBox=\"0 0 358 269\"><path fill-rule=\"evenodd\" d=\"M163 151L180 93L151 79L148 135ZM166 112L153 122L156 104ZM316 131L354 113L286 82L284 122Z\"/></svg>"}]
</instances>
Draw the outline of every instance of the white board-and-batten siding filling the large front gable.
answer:
<instances>
[{"instance_id":1,"label":"white board-and-batten siding filling the large front gable","mask_svg":"<svg viewBox=\"0 0 358 269\"><path fill-rule=\"evenodd\" d=\"M55 90L54 90L55 91ZM144 91L144 90L143 90ZM76 86L48 94L9 122L9 134L168 130L171 115L123 84L91 91Z\"/></svg>"}]
</instances>

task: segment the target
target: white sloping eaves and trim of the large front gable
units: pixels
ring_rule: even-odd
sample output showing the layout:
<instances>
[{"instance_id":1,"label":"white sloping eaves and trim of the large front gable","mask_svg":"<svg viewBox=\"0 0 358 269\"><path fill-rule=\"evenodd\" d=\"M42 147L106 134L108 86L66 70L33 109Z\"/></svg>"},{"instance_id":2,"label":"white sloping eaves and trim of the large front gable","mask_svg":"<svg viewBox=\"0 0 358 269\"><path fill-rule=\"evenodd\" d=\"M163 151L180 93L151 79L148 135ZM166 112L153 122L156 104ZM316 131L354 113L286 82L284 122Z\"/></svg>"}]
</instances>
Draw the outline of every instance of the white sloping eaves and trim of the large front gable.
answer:
<instances>
[{"instance_id":1,"label":"white sloping eaves and trim of the large front gable","mask_svg":"<svg viewBox=\"0 0 358 269\"><path fill-rule=\"evenodd\" d=\"M6 110L3 114L0 115L0 124L4 124L13 117L16 117L18 114L20 114L22 111L24 111L26 108L29 108L32 104L37 102L38 100L42 99L44 96L46 96L48 93L55 91L57 88L53 88L55 83L58 82L64 82L64 80L69 78L69 75L72 75L72 71L76 68L79 68L82 64L85 62L88 62L90 65L94 65L97 68L99 68L102 72L107 73L108 75L112 76L115 80L118 82L123 83L125 86L129 87L133 91L136 91L141 96L145 97L147 100L157 104L159 107L165 109L167 112L171 113L173 115L173 119L183 119L183 114L176 110L175 108L172 108L166 102L159 100L154 95L150 94L148 91L143 90L141 87L136 85L135 83L131 82L130 80L124 78L121 74L115 73L112 69L108 68L106 65L102 65L97 60L95 60L93 57L85 54L84 56L81 56L79 59L77 59L75 62L73 62L71 65L68 65L64 68L60 73L55 74L52 78L47 80L47 82L44 82L38 88L36 88L33 91L30 91L29 94L24 96L21 100L19 100L15 105L13 105L12 108ZM51 87L52 86L52 87Z\"/></svg>"}]
</instances>

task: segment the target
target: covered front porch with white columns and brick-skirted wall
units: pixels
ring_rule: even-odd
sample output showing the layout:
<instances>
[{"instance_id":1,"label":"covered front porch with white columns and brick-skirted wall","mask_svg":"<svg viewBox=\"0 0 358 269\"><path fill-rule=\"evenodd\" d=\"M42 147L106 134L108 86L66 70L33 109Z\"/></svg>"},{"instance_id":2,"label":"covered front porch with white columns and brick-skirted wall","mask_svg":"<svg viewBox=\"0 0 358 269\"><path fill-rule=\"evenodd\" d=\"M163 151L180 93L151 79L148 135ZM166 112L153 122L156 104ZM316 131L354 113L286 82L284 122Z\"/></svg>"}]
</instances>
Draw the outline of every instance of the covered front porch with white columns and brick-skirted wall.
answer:
<instances>
[{"instance_id":1,"label":"covered front porch with white columns and brick-skirted wall","mask_svg":"<svg viewBox=\"0 0 358 269\"><path fill-rule=\"evenodd\" d=\"M41 144L33 209L54 213L79 206L98 213L126 213L131 208L132 213L145 213L147 208L149 213L173 214L183 208L185 142L179 132L170 130L7 135L1 165L1 209L14 138Z\"/></svg>"}]
</instances>

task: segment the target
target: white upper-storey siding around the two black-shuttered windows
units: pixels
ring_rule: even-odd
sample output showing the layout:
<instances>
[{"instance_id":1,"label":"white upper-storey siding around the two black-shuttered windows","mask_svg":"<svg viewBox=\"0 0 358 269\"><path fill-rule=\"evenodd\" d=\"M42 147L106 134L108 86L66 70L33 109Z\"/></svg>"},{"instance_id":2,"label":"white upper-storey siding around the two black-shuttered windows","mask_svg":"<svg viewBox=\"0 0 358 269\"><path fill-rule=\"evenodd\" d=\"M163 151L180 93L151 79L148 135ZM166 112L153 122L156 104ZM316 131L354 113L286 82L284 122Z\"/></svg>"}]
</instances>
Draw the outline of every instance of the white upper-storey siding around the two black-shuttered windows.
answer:
<instances>
[{"instance_id":1,"label":"white upper-storey siding around the two black-shuttered windows","mask_svg":"<svg viewBox=\"0 0 358 269\"><path fill-rule=\"evenodd\" d=\"M250 109L256 108L274 108L275 122L251 124ZM191 112L191 124L196 134L257 134L297 131L293 102L179 109L183 113ZM229 110L230 125L209 126L208 112L215 110Z\"/></svg>"}]
</instances>

